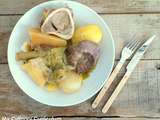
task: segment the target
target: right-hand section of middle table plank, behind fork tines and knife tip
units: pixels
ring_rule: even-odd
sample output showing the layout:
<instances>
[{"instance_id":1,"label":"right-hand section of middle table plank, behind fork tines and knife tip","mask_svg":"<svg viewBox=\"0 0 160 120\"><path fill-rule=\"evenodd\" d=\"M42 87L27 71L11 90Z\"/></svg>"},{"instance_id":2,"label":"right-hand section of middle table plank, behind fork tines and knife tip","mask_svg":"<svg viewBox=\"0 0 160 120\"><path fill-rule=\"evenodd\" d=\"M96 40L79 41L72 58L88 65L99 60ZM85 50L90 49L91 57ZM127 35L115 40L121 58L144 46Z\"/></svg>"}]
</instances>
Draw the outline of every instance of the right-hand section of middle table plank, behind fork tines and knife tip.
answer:
<instances>
[{"instance_id":1,"label":"right-hand section of middle table plank, behind fork tines and knife tip","mask_svg":"<svg viewBox=\"0 0 160 120\"><path fill-rule=\"evenodd\" d=\"M103 15L102 17L112 31L116 46L116 59L120 58L122 48L134 39L135 34L144 32L148 36L156 34L157 38L142 59L160 59L160 14Z\"/></svg>"}]
</instances>

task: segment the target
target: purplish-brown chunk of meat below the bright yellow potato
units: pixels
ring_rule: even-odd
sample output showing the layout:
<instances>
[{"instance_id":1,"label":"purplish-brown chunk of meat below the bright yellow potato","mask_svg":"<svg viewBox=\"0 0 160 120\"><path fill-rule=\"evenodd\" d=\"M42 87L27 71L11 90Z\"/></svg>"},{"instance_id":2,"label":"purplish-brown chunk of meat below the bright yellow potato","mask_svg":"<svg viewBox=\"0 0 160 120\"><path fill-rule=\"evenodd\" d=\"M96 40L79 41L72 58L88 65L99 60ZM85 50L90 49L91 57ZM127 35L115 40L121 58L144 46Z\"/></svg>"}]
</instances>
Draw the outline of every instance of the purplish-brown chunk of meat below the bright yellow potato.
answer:
<instances>
[{"instance_id":1,"label":"purplish-brown chunk of meat below the bright yellow potato","mask_svg":"<svg viewBox=\"0 0 160 120\"><path fill-rule=\"evenodd\" d=\"M74 66L78 73L88 72L97 63L99 56L99 45L87 40L69 46L66 50L68 63Z\"/></svg>"}]
</instances>

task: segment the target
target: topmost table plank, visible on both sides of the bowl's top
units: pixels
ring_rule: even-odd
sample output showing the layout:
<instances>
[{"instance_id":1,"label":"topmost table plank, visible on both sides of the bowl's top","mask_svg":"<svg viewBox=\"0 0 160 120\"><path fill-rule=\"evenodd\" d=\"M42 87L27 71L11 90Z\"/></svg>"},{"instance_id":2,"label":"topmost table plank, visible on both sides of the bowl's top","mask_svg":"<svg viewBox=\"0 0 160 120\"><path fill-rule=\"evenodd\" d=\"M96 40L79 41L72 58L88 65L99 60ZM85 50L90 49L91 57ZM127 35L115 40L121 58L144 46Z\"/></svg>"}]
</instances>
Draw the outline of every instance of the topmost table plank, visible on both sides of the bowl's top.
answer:
<instances>
[{"instance_id":1,"label":"topmost table plank, visible on both sides of the bowl's top","mask_svg":"<svg viewBox=\"0 0 160 120\"><path fill-rule=\"evenodd\" d=\"M0 14L24 14L48 0L1 0ZM159 0L76 0L98 13L158 13Z\"/></svg>"}]
</instances>

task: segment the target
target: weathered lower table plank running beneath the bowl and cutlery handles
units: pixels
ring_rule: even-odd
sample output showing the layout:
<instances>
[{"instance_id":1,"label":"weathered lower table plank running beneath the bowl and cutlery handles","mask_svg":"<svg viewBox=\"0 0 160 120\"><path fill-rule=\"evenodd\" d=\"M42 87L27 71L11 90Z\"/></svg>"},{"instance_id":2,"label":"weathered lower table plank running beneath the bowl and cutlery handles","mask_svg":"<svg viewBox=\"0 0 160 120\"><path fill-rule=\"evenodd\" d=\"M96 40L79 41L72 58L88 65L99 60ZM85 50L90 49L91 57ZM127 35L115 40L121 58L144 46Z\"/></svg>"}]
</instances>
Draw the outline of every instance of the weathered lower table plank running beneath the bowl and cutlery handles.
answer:
<instances>
[{"instance_id":1,"label":"weathered lower table plank running beneath the bowl and cutlery handles","mask_svg":"<svg viewBox=\"0 0 160 120\"><path fill-rule=\"evenodd\" d=\"M91 108L93 98L76 106L57 108L36 102L23 93L14 82L7 64L0 65L0 113L39 116L121 116L160 117L160 60L142 60L107 114ZM125 70L119 73L120 80ZM23 80L23 79L22 79ZM117 83L112 85L112 91ZM107 99L110 92L106 94ZM85 109L84 109L85 108Z\"/></svg>"}]
</instances>

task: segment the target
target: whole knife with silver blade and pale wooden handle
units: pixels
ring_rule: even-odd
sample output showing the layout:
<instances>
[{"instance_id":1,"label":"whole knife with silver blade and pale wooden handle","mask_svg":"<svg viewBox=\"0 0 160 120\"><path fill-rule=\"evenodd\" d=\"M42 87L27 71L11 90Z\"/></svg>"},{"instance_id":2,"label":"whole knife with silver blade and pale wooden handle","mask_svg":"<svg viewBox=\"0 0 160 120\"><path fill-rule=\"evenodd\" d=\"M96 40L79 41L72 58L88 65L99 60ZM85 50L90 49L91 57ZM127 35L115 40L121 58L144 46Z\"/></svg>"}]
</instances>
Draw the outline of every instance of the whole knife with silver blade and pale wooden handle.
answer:
<instances>
[{"instance_id":1,"label":"whole knife with silver blade and pale wooden handle","mask_svg":"<svg viewBox=\"0 0 160 120\"><path fill-rule=\"evenodd\" d=\"M144 53L146 52L147 48L152 43L152 41L155 39L155 37L156 37L156 35L153 35L152 37L150 37L137 50L137 52L135 53L135 55L131 59L130 63L126 67L127 72L125 73L125 75L123 76L122 80L119 82L119 84L117 85L116 89L114 90L114 92L112 93L112 95L110 96L110 98L108 99L108 101L106 102L106 104L104 105L104 107L102 109L103 113L106 113L108 111L108 109L112 105L113 101L118 96L119 92L121 91L121 89L123 88L123 86L125 85L125 83L127 82L128 78L131 75L131 73L133 72L134 68L136 67L136 65L138 64L138 62L140 61L140 59L143 57Z\"/></svg>"}]
</instances>

